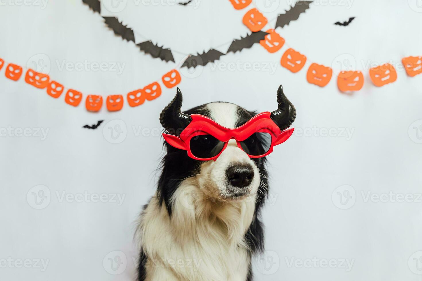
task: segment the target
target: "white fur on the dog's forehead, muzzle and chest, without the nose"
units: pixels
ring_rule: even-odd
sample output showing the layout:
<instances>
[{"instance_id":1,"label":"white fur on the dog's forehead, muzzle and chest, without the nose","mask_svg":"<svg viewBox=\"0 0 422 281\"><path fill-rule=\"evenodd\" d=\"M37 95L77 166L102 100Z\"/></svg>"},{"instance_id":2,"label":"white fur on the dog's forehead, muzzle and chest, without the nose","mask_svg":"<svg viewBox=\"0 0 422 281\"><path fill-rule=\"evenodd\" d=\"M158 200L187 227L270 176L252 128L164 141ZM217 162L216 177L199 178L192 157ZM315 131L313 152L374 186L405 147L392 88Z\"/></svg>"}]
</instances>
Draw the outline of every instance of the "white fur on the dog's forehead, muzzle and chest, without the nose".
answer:
<instances>
[{"instance_id":1,"label":"white fur on the dog's forehead, muzzle and chest, without the nose","mask_svg":"<svg viewBox=\"0 0 422 281\"><path fill-rule=\"evenodd\" d=\"M228 128L237 121L237 106L211 103L211 117ZM249 163L255 177L249 196L227 199L227 167ZM259 172L234 140L216 161L202 163L200 174L181 182L173 195L171 218L157 195L149 201L137 230L139 246L148 257L147 281L245 281L250 258L244 235L255 209ZM192 260L192 266L178 265ZM175 261L170 266L170 261ZM184 262L184 265L187 265ZM197 265L197 266L196 266Z\"/></svg>"}]
</instances>

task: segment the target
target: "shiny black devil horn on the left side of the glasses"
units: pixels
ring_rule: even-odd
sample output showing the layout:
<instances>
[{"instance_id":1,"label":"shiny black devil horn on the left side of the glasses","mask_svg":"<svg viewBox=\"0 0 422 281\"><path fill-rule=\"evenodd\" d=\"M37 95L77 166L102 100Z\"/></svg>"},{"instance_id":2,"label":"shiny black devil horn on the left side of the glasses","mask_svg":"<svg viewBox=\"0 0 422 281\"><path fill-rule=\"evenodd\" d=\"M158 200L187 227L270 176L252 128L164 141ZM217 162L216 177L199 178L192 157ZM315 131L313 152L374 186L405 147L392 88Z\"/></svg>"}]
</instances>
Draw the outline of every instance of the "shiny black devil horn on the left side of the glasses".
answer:
<instances>
[{"instance_id":1,"label":"shiny black devil horn on the left side of the glasses","mask_svg":"<svg viewBox=\"0 0 422 281\"><path fill-rule=\"evenodd\" d=\"M182 93L177 88L174 99L162 110L160 114L161 125L170 133L179 136L181 131L186 128L192 118L183 113L182 109Z\"/></svg>"}]
</instances>

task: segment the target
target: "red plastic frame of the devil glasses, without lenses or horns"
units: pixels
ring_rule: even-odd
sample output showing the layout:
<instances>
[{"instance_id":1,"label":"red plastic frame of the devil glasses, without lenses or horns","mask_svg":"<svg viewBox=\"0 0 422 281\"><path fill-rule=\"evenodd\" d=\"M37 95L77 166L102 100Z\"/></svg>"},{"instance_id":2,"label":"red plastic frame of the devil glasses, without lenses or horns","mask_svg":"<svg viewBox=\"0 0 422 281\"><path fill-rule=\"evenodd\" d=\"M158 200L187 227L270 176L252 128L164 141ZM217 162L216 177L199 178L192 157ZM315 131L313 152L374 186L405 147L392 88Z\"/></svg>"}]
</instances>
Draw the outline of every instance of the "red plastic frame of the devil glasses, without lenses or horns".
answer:
<instances>
[{"instance_id":1,"label":"red plastic frame of the devil glasses, without lenses or horns","mask_svg":"<svg viewBox=\"0 0 422 281\"><path fill-rule=\"evenodd\" d=\"M275 145L279 145L289 139L289 137L293 134L294 130L294 128L291 128L284 131L280 131L280 128L277 126L276 123L274 123L270 116L271 112L261 112L260 114L255 115L253 118L251 118L248 122L244 123L242 126L232 129L223 127L211 118L208 118L204 115L192 114L190 115L192 121L181 132L180 136L165 133L163 133L162 136L164 137L165 141L168 142L169 145L179 149L187 150L187 154L190 158L200 161L215 161L226 149L230 139L235 139L237 146L241 150L243 150L243 148L241 147L241 142L243 142L252 134L258 132L269 133L271 134L271 146L266 153L262 155L250 155L245 151L245 153L250 158L260 158L267 156L268 154L273 152L273 148ZM189 143L193 137L205 134L210 134L219 141L224 142L224 146L220 153L214 157L198 158L192 154Z\"/></svg>"}]
</instances>

